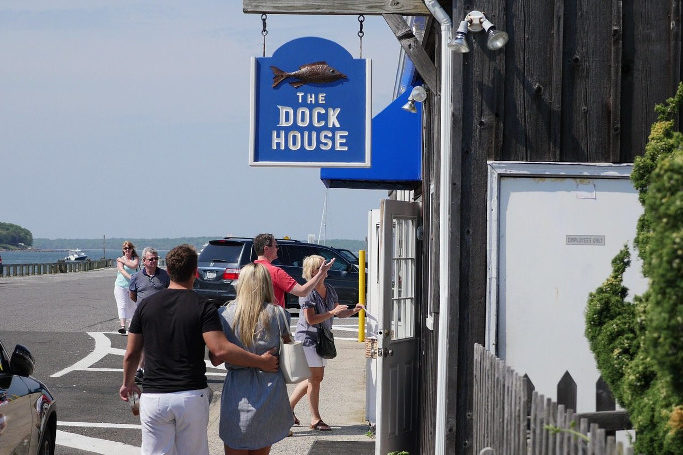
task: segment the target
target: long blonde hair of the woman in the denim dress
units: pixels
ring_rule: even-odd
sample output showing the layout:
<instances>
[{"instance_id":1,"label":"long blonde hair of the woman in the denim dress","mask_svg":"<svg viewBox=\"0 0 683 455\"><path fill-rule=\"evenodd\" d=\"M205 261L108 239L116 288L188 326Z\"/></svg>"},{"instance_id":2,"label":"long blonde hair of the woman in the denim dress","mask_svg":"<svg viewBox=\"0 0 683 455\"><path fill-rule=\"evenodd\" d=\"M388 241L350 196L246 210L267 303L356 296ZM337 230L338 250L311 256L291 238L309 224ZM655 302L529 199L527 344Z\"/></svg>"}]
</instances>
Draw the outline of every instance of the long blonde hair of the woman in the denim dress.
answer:
<instances>
[{"instance_id":1,"label":"long blonde hair of the woman in the denim dress","mask_svg":"<svg viewBox=\"0 0 683 455\"><path fill-rule=\"evenodd\" d=\"M237 279L237 297L231 302L237 305L235 324L238 325L237 337L245 347L254 345L257 329L268 328L267 305L275 302L273 282L270 273L261 264L247 264L240 270Z\"/></svg>"}]
</instances>

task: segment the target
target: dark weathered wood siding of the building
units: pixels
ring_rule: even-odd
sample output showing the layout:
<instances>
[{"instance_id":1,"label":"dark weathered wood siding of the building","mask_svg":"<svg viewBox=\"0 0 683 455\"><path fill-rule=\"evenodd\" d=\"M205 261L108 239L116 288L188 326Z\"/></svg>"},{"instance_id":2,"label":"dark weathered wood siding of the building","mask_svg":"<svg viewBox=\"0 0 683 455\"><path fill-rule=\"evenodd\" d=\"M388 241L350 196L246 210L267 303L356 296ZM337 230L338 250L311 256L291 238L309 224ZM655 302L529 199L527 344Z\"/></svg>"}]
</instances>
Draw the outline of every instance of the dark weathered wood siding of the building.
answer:
<instances>
[{"instance_id":1,"label":"dark weathered wood siding of the building","mask_svg":"<svg viewBox=\"0 0 683 455\"><path fill-rule=\"evenodd\" d=\"M472 9L510 35L489 51L484 33L453 55L453 216L447 453L471 453L472 345L484 343L486 162L632 162L643 153L654 106L681 77L681 0L442 1L455 26ZM427 52L439 66L439 26ZM432 44L433 43L433 44ZM427 299L438 309L439 106L426 102L423 202ZM428 149L431 147L431 149ZM431 292L430 292L431 289ZM437 327L421 330L420 453L434 452Z\"/></svg>"}]
</instances>

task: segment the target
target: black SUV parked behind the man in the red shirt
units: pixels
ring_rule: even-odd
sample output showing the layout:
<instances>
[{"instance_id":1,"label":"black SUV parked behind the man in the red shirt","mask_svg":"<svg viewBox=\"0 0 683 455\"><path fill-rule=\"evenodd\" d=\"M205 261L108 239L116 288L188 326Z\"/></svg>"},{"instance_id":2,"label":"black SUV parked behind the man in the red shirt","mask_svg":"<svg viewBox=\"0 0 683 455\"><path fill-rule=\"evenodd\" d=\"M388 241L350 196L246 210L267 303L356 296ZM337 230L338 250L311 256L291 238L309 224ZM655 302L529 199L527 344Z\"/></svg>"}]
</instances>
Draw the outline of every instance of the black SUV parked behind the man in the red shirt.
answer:
<instances>
[{"instance_id":1,"label":"black SUV parked behind the man in the red shirt","mask_svg":"<svg viewBox=\"0 0 683 455\"><path fill-rule=\"evenodd\" d=\"M224 305L235 298L234 284L242 267L256 259L253 239L243 237L225 237L211 240L199 253L197 279L194 291L208 297L219 305ZM314 243L297 240L277 239L278 258L273 265L282 268L299 284L304 284L302 277L303 263L306 256L317 254L329 261L335 258L332 268L325 280L339 296L339 303L353 304L358 302L358 265L348 259L348 254L339 250ZM287 308L299 308L299 298L287 294Z\"/></svg>"}]
</instances>

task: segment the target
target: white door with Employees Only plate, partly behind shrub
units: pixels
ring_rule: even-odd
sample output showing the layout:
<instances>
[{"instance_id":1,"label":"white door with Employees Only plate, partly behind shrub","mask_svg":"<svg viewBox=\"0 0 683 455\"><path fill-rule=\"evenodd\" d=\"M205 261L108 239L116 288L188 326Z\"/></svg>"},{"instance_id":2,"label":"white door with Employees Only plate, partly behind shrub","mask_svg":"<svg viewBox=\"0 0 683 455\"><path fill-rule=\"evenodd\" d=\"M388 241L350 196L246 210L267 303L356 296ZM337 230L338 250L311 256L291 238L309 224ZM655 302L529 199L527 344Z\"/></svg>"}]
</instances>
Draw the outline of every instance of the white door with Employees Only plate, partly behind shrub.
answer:
<instances>
[{"instance_id":1,"label":"white door with Employees Only plate, partly behind shrub","mask_svg":"<svg viewBox=\"0 0 683 455\"><path fill-rule=\"evenodd\" d=\"M491 166L489 349L552 399L568 372L577 411L595 411L599 372L584 336L585 308L612 258L633 244L642 207L631 167ZM631 258L629 299L646 285L633 250Z\"/></svg>"}]
</instances>

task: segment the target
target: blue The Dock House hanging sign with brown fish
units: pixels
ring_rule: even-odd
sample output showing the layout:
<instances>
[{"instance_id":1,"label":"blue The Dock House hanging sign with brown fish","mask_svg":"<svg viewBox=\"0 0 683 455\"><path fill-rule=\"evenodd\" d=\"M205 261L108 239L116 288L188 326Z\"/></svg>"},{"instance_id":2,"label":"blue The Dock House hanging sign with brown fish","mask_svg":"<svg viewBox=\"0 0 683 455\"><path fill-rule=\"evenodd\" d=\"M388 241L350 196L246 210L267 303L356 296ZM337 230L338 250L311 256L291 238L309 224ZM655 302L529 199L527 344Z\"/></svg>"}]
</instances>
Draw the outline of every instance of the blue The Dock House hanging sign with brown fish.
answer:
<instances>
[{"instance_id":1,"label":"blue The Dock House hanging sign with brown fish","mask_svg":"<svg viewBox=\"0 0 683 455\"><path fill-rule=\"evenodd\" d=\"M370 60L324 38L252 58L252 166L370 167Z\"/></svg>"}]
</instances>

